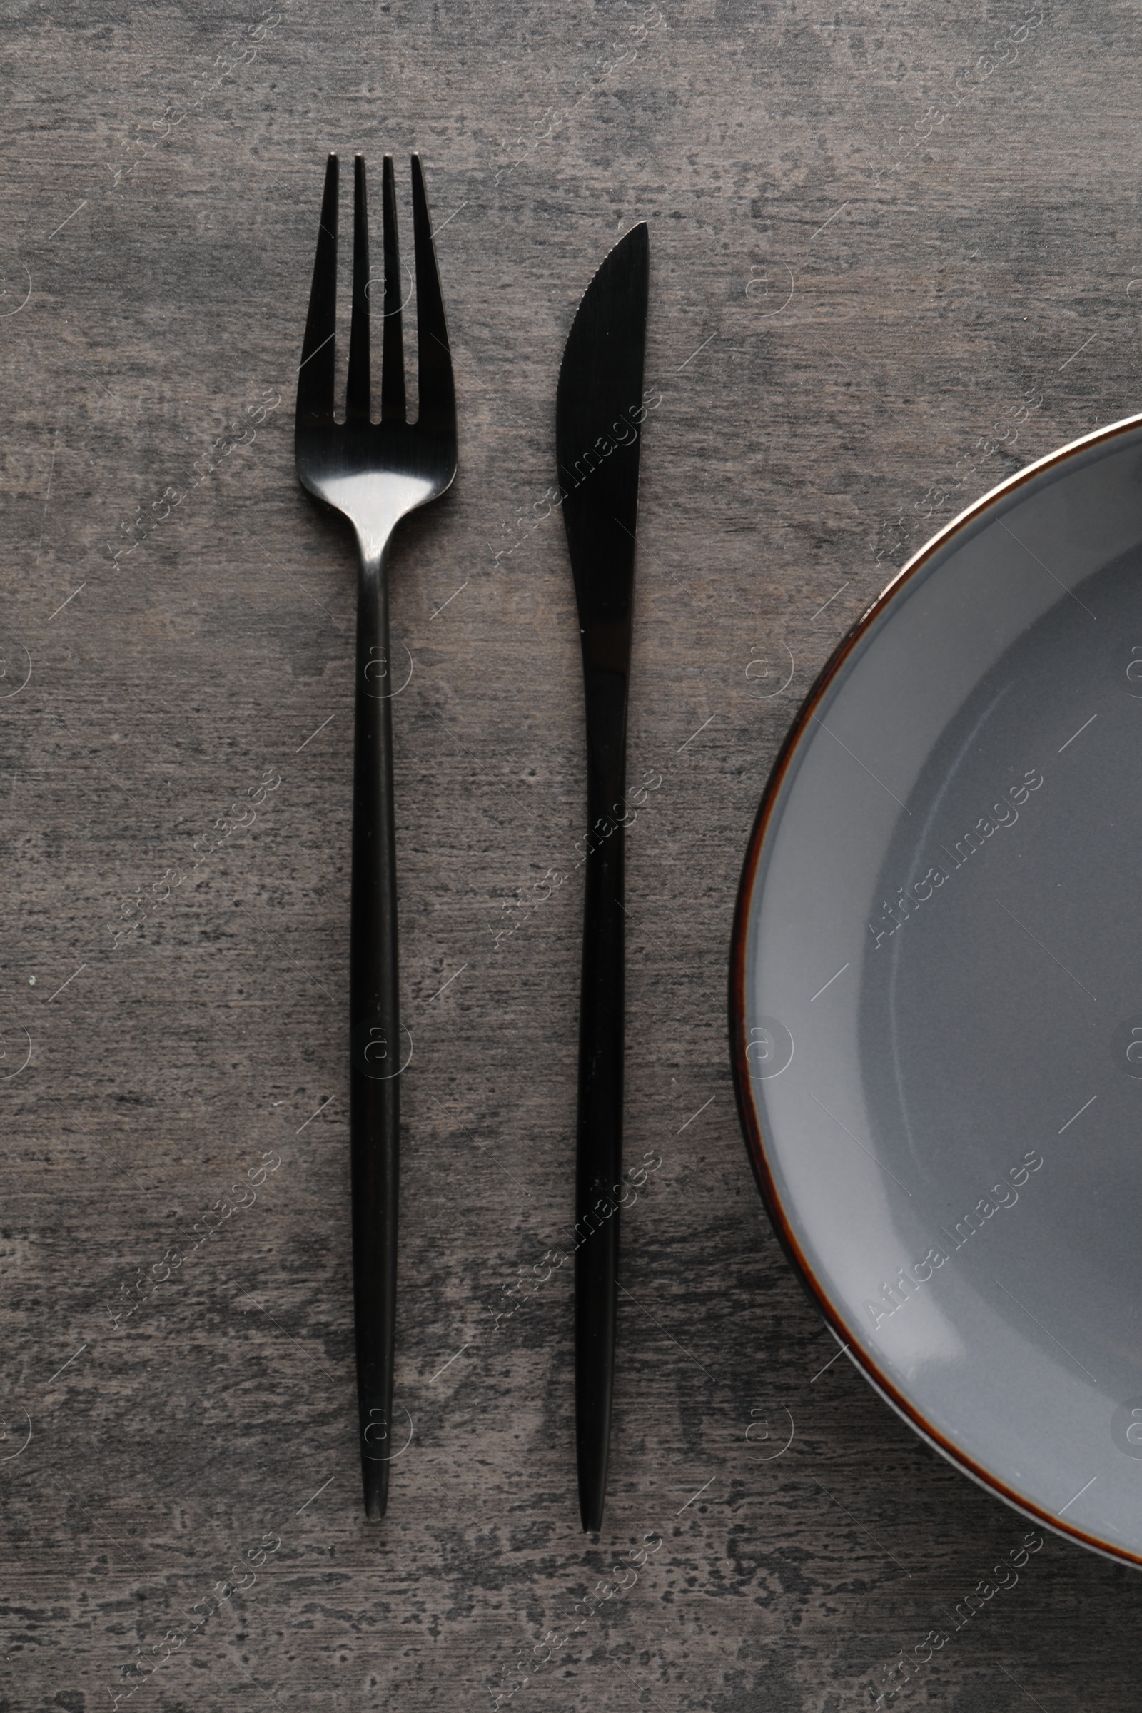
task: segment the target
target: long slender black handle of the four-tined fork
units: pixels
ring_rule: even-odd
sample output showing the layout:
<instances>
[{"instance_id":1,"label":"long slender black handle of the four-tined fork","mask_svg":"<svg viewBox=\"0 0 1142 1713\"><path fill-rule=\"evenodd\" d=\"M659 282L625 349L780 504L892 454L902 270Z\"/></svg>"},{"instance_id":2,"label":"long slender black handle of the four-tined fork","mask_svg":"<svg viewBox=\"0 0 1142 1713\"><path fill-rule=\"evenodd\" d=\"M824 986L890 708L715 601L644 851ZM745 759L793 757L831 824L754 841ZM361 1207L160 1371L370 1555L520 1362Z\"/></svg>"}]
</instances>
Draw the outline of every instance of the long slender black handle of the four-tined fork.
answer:
<instances>
[{"instance_id":1,"label":"long slender black handle of the four-tined fork","mask_svg":"<svg viewBox=\"0 0 1142 1713\"><path fill-rule=\"evenodd\" d=\"M361 555L353 752L349 946L349 1146L353 1310L365 1514L384 1516L392 1422L397 1292L401 1067L397 856L392 802L392 689L385 552ZM396 1439L401 1435L396 1434Z\"/></svg>"}]
</instances>

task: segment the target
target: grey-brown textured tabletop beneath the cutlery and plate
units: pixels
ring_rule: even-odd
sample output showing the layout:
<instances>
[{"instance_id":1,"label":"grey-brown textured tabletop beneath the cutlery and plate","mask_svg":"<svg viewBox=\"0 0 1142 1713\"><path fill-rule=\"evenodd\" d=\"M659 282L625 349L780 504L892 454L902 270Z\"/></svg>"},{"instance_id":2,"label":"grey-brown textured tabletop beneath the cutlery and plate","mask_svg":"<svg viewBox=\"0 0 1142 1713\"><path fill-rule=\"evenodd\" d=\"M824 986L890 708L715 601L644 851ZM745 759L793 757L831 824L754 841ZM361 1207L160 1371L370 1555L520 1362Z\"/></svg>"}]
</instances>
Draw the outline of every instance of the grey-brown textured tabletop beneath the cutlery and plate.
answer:
<instances>
[{"instance_id":1,"label":"grey-brown textured tabletop beneath the cutlery and plate","mask_svg":"<svg viewBox=\"0 0 1142 1713\"><path fill-rule=\"evenodd\" d=\"M952 1632L1027 1526L830 1364L724 1024L745 839L837 637L940 519L1142 404L1137 10L0 17L0 1708L1137 1704L1142 1581L1056 1537ZM354 564L291 457L329 147L392 151L402 194L421 151L462 411L455 488L394 558L411 1437L380 1526L353 1420ZM630 769L659 785L628 843L627 1148L654 1170L591 1543L570 1266L505 1310L572 1223L553 391L635 219L661 406Z\"/></svg>"}]
</instances>

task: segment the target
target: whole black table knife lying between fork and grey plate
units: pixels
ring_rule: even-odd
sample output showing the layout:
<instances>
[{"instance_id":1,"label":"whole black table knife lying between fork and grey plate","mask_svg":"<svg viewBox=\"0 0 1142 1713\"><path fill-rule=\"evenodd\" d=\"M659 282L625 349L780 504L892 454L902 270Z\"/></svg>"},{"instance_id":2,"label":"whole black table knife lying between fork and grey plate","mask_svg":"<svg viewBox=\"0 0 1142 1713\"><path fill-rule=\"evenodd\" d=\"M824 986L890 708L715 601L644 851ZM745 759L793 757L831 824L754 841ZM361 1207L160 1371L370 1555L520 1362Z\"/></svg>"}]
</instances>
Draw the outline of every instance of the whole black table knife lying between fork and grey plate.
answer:
<instances>
[{"instance_id":1,"label":"whole black table knife lying between fork and grey plate","mask_svg":"<svg viewBox=\"0 0 1142 1713\"><path fill-rule=\"evenodd\" d=\"M627 685L649 243L615 245L572 324L555 401L563 524L587 713L587 850L575 1156L575 1444L584 1530L603 1526L615 1377L623 1170Z\"/></svg>"}]
</instances>

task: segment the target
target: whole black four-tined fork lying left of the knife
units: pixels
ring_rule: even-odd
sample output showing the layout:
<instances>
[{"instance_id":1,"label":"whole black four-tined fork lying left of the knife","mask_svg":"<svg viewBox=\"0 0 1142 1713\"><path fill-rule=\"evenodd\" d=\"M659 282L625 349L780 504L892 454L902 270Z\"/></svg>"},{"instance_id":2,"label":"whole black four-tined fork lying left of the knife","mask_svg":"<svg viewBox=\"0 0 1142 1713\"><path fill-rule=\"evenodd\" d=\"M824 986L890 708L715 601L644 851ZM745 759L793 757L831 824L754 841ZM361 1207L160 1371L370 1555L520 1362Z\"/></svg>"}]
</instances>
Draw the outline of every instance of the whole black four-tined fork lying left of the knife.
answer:
<instances>
[{"instance_id":1,"label":"whole black four-tined fork lying left of the knife","mask_svg":"<svg viewBox=\"0 0 1142 1713\"><path fill-rule=\"evenodd\" d=\"M401 257L392 156L384 163L385 322L380 421L372 420L370 267L365 159L356 156L353 320L346 420L334 421L337 156L329 156L310 313L298 368L294 454L310 493L349 519L360 552L356 737L353 757L353 925L349 947L349 1134L353 1151L353 1307L366 1516L384 1516L389 1465L406 1441L392 1417L397 1286L401 1028L397 865L392 803L389 541L397 522L455 476L455 394L440 274L419 156L413 156L413 247L419 413L406 421ZM407 1036L407 1050L406 1050ZM411 1432L411 1427L409 1427Z\"/></svg>"}]
</instances>

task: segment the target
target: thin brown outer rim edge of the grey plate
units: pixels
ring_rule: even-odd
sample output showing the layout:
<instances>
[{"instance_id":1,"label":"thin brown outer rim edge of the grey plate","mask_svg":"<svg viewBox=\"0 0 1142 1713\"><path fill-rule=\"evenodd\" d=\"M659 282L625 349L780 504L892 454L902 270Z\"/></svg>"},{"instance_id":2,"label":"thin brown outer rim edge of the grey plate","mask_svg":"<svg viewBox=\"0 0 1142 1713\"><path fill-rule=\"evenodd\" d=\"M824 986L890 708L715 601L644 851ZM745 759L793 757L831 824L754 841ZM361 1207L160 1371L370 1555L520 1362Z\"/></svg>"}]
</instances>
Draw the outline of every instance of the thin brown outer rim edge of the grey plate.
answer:
<instances>
[{"instance_id":1,"label":"thin brown outer rim edge of the grey plate","mask_svg":"<svg viewBox=\"0 0 1142 1713\"><path fill-rule=\"evenodd\" d=\"M1056 447L1044 457L1034 459L1034 463L1026 464L1024 469L1017 469L1012 476L1005 476L1003 481L988 488L978 500L957 512L942 529L937 531L909 560L904 562L901 570L883 586L880 594L865 608L865 612L849 625L834 651L830 653L825 665L820 668L812 685L808 687L801 704L793 716L789 730L777 750L774 764L770 767L769 778L765 781L765 790L762 791L762 800L753 817L753 827L750 831L750 839L746 845L745 858L741 863L741 877L738 880L738 896L735 903L733 930L729 939L729 1067L733 1072L735 1098L738 1105L738 1120L741 1124L741 1136L745 1141L745 1151L748 1155L750 1165L753 1168L753 1177L762 1196L762 1203L769 1215L770 1225L777 1240L786 1254L786 1259L793 1266L794 1276L805 1286L810 1300L815 1304L818 1312L824 1316L825 1324L830 1328L834 1336L841 1345L846 1346L846 1355L859 1369L861 1376L868 1381L873 1391L880 1393L885 1403L901 1415L909 1427L935 1451L942 1453L961 1473L967 1475L976 1485L983 1487L995 1497L1002 1499L1014 1511L1022 1516L1032 1518L1044 1528L1053 1530L1056 1535L1063 1535L1068 1540L1077 1542L1092 1552L1109 1557L1115 1562L1130 1564L1142 1567L1142 1549L1139 1552L1130 1552L1130 1549L1118 1545L1116 1542L1103 1540L1077 1523L1067 1521L1051 1511L1044 1511L1034 1501L1027 1499L1024 1494L1017 1494L1008 1487L1000 1477L993 1475L981 1463L957 1446L954 1441L947 1439L940 1429L937 1429L925 1413L882 1372L875 1358L859 1343L853 1343L854 1329L846 1322L844 1316L829 1298L822 1281L813 1273L813 1266L801 1250L796 1233L786 1209L782 1206L781 1196L777 1192L774 1177L769 1170L765 1137L762 1132L760 1117L753 1103L753 1086L750 1077L750 1067L746 1060L746 1023L745 1023L745 946L750 928L750 901L753 898L753 887L757 879L757 868L762 856L762 846L769 833L769 824L772 812L781 795L781 788L789 773L789 764L801 745L813 711L824 699L825 692L832 685L834 678L848 661L849 654L873 625L873 622L892 605L904 588L916 577L916 574L928 564L928 560L943 548L952 536L959 534L967 524L971 524L981 512L984 512L1000 495L1014 493L1017 488L1024 486L1043 471L1055 464L1062 464L1074 457L1075 452L1084 449L1101 445L1104 442L1115 440L1130 430L1142 428L1142 411L1123 416L1104 428L1094 428L1091 433L1080 435L1077 440L1068 440L1065 445Z\"/></svg>"}]
</instances>

